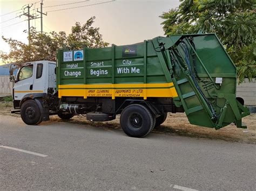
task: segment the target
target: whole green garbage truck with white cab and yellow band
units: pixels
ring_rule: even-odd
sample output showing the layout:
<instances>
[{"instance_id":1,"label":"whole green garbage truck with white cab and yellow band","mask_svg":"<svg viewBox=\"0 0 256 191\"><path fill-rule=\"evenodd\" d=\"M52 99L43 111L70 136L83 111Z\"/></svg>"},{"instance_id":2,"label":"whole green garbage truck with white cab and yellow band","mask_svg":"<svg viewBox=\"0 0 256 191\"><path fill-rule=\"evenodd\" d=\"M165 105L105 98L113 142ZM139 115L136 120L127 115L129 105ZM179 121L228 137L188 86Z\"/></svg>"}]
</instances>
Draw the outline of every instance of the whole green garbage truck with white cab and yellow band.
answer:
<instances>
[{"instance_id":1,"label":"whole green garbage truck with white cab and yellow band","mask_svg":"<svg viewBox=\"0 0 256 191\"><path fill-rule=\"evenodd\" d=\"M191 124L246 128L250 115L236 97L237 69L215 34L156 37L133 45L59 49L57 62L24 63L13 90L14 108L26 124L50 115L110 121L120 114L128 136L144 137L185 112Z\"/></svg>"}]
</instances>

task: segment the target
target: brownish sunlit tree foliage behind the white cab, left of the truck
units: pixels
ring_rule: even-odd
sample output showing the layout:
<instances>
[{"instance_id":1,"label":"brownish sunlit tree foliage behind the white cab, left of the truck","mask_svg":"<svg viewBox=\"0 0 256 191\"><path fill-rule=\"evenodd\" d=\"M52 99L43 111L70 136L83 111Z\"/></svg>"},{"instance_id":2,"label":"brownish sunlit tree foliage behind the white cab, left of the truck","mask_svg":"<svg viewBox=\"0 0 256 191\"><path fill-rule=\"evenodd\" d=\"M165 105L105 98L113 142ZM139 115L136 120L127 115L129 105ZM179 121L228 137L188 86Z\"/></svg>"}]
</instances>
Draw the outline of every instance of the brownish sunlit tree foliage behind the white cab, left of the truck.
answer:
<instances>
[{"instance_id":1,"label":"brownish sunlit tree foliage behind the white cab, left of the truck","mask_svg":"<svg viewBox=\"0 0 256 191\"><path fill-rule=\"evenodd\" d=\"M25 63L36 60L56 61L56 51L59 48L82 49L86 47L105 47L109 43L103 41L102 34L98 27L93 27L95 17L91 17L85 24L76 23L72 27L71 33L65 32L43 34L37 33L35 28L30 32L30 45L12 38L3 38L10 46L10 53L0 51L0 57L5 62ZM24 31L26 32L26 31Z\"/></svg>"}]
</instances>

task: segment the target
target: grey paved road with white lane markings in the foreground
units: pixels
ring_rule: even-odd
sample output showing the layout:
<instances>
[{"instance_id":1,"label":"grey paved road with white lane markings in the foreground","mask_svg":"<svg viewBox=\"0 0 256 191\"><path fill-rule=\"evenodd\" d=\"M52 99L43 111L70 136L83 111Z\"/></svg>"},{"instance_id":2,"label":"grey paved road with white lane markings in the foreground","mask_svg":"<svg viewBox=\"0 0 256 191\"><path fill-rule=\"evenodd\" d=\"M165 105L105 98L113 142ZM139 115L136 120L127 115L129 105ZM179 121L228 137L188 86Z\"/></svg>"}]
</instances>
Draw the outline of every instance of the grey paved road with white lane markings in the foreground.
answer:
<instances>
[{"instance_id":1,"label":"grey paved road with white lane markings in the foreground","mask_svg":"<svg viewBox=\"0 0 256 191\"><path fill-rule=\"evenodd\" d=\"M0 189L255 190L256 145L0 116ZM24 153L25 151L36 153ZM42 157L35 154L47 155Z\"/></svg>"}]
</instances>

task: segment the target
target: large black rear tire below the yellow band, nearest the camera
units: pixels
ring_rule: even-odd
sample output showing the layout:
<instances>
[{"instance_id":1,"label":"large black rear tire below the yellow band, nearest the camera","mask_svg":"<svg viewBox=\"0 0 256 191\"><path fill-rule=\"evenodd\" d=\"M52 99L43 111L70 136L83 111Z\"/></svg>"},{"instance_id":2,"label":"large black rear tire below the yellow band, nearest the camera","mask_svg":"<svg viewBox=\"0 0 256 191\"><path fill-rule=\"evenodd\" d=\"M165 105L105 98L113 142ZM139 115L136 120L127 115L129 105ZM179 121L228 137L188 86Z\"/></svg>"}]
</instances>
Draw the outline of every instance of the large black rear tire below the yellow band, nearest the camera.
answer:
<instances>
[{"instance_id":1,"label":"large black rear tire below the yellow band, nearest the camera","mask_svg":"<svg viewBox=\"0 0 256 191\"><path fill-rule=\"evenodd\" d=\"M149 109L140 104L127 106L120 116L121 127L130 137L145 137L154 128L154 123Z\"/></svg>"}]
</instances>

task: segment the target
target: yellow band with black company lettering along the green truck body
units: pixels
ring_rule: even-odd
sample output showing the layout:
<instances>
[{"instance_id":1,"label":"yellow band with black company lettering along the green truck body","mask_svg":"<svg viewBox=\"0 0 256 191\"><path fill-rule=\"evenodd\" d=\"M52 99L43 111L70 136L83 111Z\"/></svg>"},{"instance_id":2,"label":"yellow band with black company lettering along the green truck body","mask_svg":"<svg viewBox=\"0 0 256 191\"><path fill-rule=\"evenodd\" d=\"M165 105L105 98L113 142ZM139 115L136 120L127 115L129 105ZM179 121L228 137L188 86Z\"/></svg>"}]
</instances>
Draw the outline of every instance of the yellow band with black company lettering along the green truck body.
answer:
<instances>
[{"instance_id":1,"label":"yellow band with black company lettering along the green truck body","mask_svg":"<svg viewBox=\"0 0 256 191\"><path fill-rule=\"evenodd\" d=\"M79 97L177 97L173 83L69 84L58 86L58 96Z\"/></svg>"}]
</instances>

